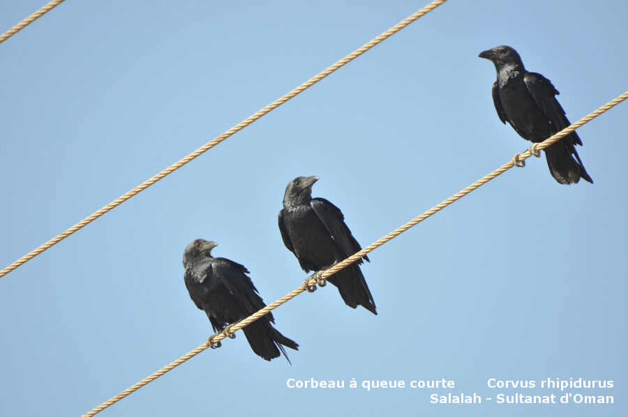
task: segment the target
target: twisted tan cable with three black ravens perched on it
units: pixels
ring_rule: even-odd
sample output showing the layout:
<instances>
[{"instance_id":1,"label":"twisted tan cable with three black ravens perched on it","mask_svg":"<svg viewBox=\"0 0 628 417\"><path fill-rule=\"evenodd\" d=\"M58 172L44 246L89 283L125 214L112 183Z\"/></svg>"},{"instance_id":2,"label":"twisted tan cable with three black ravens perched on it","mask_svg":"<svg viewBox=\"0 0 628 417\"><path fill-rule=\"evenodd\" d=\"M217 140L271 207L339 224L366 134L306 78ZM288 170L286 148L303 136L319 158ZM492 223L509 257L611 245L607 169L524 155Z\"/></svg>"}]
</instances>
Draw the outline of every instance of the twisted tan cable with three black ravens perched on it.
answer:
<instances>
[{"instance_id":1,"label":"twisted tan cable with three black ravens perched on it","mask_svg":"<svg viewBox=\"0 0 628 417\"><path fill-rule=\"evenodd\" d=\"M177 359L177 361L174 361L174 362L170 363L169 365L166 365L165 367L161 368L157 372L154 372L153 374L149 375L148 377L142 379L142 381L137 382L137 384L134 384L133 386L130 386L129 388L127 388L126 390L122 391L118 395L112 397L110 400L107 400L107 401L103 402L103 404L100 404L98 407L92 409L91 411L87 412L86 414L83 414L83 417L90 417L90 416L94 416L95 414L98 414L100 411L103 411L104 409L106 409L110 405L118 402L119 400L122 400L124 397L126 397L126 396L130 395L131 393L134 393L138 389L142 388L142 386L149 384L149 382L154 381L155 379L157 379L158 377L161 377L166 372L169 372L170 370L174 369L174 367L177 367L177 366L181 365L181 363L184 363L184 362L188 361L188 359L193 358L197 354L200 354L205 349L207 349L209 347L214 347L218 342L220 342L220 340L224 340L225 338L230 337L230 335L232 335L233 333L241 330L241 328L244 328L244 327L248 326L249 324L253 323L253 321L255 321L257 319L260 319L260 317L263 317L264 315L268 314L272 310L275 310L276 308L278 308L280 305L286 303L287 301L292 300L292 298L298 296L302 292L304 292L304 291L313 292L315 290L317 284L320 287L324 287L324 282L331 275L334 275L334 273L336 273L336 272L340 271L341 269L349 266L350 264L352 264L353 262L357 261L361 257L364 257L364 255L368 255L368 253L373 252L373 250L375 250L376 248L379 248L384 243L387 243L388 241L391 241L392 239L396 238L397 236L399 236L403 232L407 231L411 227L414 227L414 226L418 225L423 220L426 220L426 218L431 217L435 213L438 213L439 211L441 211L443 208L449 206L450 204L453 204L454 202L458 201L459 199L461 199L465 195L468 195L473 190L476 190L477 188L480 188L482 185L488 183L488 181L491 181L492 179L495 179L497 176L500 176L504 172L507 172L512 167L517 166L518 162L523 162L526 159L530 158L531 156L537 154L539 151L541 151L543 149L546 149L548 146L550 146L554 142L557 142L558 140L562 139L562 137L565 137L565 136L569 135L569 133L574 132L574 130L576 130L577 128L583 126L585 123L588 123L589 121L592 121L593 119L595 119L600 114L602 114L602 113L608 111L609 109L615 107L619 103L622 103L622 101L626 100L627 98L628 98L628 91L623 93L621 96L618 96L618 98L615 98L614 100L611 100L610 102L606 103L606 105L603 105L602 107L599 107L599 109L595 110L595 112L592 112L592 113L588 114L587 116L584 116L582 119L576 121L576 123L572 123L567 128L561 130L560 132L556 133L555 135L553 135L551 137L548 137L548 139L545 139L544 142L533 144L532 146L530 146L530 149L527 149L525 152L516 154L516 156L514 156L514 158L512 158L509 162L505 163L504 165L502 165L498 169L495 169L495 171L491 172L490 174L488 174L486 176L483 176L481 179L475 181L474 183L472 183L468 187L464 188L460 192L456 192L456 194L452 195L448 199L445 199L443 202L440 202L439 204L436 204L435 206L430 208L425 213L423 213L423 214L413 218L412 220L410 220L409 222L405 223L404 225L401 225L401 227L398 227L397 229L394 229L392 232L390 232L386 236L384 236L384 237L382 237L380 239L377 239L377 241L371 243L371 245L368 245L366 248L360 250L359 252L356 252L354 255L351 255L350 257L348 257L344 261L341 261L338 264L336 264L336 265L332 266L331 268L328 268L328 269L326 269L324 271L318 271L316 273L313 273L313 275L310 275L303 282L303 284L301 284L300 287L293 289L292 291L290 291L285 296L279 298L277 301L274 301L274 303L270 303L269 305L267 305L266 307L262 308L261 310L255 312L254 314L251 314L249 317L246 317L246 319L238 321L236 324L232 324L232 325L228 326L228 328L225 328L224 331L216 333L215 335L212 335L209 339L207 339L206 342L201 344L199 347L197 347L193 351L190 351L190 352L188 352L188 354L185 354L184 356L181 356L181 358Z\"/></svg>"}]
</instances>

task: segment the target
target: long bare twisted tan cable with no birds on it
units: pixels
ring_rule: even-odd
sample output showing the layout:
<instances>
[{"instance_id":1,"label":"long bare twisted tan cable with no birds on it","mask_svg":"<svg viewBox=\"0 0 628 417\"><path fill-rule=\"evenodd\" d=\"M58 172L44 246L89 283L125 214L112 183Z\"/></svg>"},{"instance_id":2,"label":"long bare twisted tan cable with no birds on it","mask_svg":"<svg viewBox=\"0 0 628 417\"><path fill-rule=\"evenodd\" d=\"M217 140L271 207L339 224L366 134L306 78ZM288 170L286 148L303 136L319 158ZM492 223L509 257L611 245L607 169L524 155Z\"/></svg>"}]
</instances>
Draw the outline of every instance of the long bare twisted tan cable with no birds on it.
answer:
<instances>
[{"instance_id":1,"label":"long bare twisted tan cable with no birds on it","mask_svg":"<svg viewBox=\"0 0 628 417\"><path fill-rule=\"evenodd\" d=\"M199 149L197 149L193 153L190 153L185 158L179 160L179 162L176 162L176 163L170 165L170 167L167 167L162 172L159 172L158 174L156 174L155 176L151 177L147 181L144 181L140 185L137 185L137 187L133 188L133 190L130 190L130 191L126 192L124 195L122 195L121 197L118 197L113 202L110 202L109 204L107 204L103 208L100 208L100 210L95 211L91 215L87 216L87 218L84 218L83 220L78 222L73 227L70 227L69 229L67 229L65 232L63 232L61 234L58 234L54 238L50 239L50 241L47 241L43 245L40 245L39 248L36 248L35 250L29 252L27 255L24 255L20 259L17 259L17 261L13 262L13 264L10 264L9 266L7 266L6 268L4 268L4 269L2 269L0 271L0 278L3 277L4 275L10 273L10 271L13 271L15 268L18 268L20 265L25 264L27 261L33 259L37 255L39 255L41 252L44 252L45 250L50 249L53 245L56 245L57 243L62 241L64 238L70 236L71 234L73 234L73 233L77 232L78 230L82 229L83 227L89 225L89 223L93 222L94 220L99 218L101 215L107 213L108 211L111 211L113 208L116 208L120 204L126 202L126 200L130 199L130 197L133 197L134 195L137 195L138 193L142 192L143 190L146 190L151 185L153 185L154 183L156 183L160 179L163 179L168 174L172 174L172 172L174 172L177 169L183 167L188 162L190 162L191 160L197 158L198 156L202 155L203 153L209 151L209 149L213 148L217 144L220 144L220 142L223 142L228 137L234 135L234 133L239 132L240 130L246 128L246 126L250 125L251 123L253 123L257 119L260 119L265 114L268 114L272 110L274 110L277 107L283 105L283 103L287 102L291 98L294 98L295 96L299 95L299 93L302 93L306 89L310 88L311 86L313 86L314 84L319 82L324 77L327 77L327 75L330 75L331 73L334 73L334 71L338 70L338 68L341 68L341 67L345 66L347 63L350 63L351 61L356 59L361 54L364 54L364 52L370 50L375 45L377 45L377 44L381 43L383 40L393 36L398 31L401 31L401 29L405 28L405 26L408 26L409 24L411 24L415 20L418 20L419 17L421 17L423 15L426 15L427 13L431 12L431 10L434 10L435 8L440 6L442 3L444 3L445 1L447 1L447 0L435 0L435 1L432 1L430 4L428 4L424 8L421 8L421 10L418 10L416 13L413 13L412 15L410 15L410 17L408 17L407 19L402 20L401 22L399 22L395 26L391 27L391 29L388 29L387 31L382 33L380 36L377 36L377 38L371 40L368 43L365 43L363 46L359 47L354 52L348 54L347 56L345 56L340 61L334 63L334 65L330 66L326 70L323 70L321 73L318 73L317 75L315 75L311 79L308 79L306 82L304 82L303 84L298 86L296 89L293 89L289 93L286 93L284 96L282 96L281 98L278 98L273 103L270 103L269 105L267 105L266 107L264 107L260 111L256 112L252 116L249 116L247 119L244 119L244 121L241 121L236 126L230 128L229 130L224 132L222 135L216 137L216 139L213 139L213 140L211 140L211 142L208 142L207 144L204 144L203 146L201 146Z\"/></svg>"}]
</instances>

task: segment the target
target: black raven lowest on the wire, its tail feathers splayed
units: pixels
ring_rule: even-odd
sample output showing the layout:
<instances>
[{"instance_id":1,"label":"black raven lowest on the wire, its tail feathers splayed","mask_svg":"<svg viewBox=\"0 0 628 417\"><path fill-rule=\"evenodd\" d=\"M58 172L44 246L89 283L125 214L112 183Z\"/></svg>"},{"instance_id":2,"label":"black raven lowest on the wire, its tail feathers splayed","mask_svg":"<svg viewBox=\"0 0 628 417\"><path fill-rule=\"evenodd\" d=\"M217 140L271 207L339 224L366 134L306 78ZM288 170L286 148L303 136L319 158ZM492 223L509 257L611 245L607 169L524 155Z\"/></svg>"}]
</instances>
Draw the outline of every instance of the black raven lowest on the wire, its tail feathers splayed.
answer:
<instances>
[{"instance_id":1,"label":"black raven lowest on the wire, its tail feathers splayed","mask_svg":"<svg viewBox=\"0 0 628 417\"><path fill-rule=\"evenodd\" d=\"M190 298L207 314L215 332L223 331L227 324L244 319L266 306L253 281L246 275L249 272L244 265L211 256L211 250L216 246L216 242L196 239L186 247L183 259L186 268L184 280ZM299 350L299 345L271 326L274 322L273 314L268 313L242 331L255 354L270 361L278 357L281 350L290 363L283 346Z\"/></svg>"}]
</instances>

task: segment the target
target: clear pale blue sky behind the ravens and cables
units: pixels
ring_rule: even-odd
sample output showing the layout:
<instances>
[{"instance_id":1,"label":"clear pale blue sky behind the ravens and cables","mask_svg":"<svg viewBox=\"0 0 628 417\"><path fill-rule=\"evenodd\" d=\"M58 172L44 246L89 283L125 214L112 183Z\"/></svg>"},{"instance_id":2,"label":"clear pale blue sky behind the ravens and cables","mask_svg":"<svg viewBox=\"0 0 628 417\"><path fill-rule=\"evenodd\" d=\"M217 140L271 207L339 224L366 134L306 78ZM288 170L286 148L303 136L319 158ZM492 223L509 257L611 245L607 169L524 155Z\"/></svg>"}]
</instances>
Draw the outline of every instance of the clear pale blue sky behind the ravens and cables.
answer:
<instances>
[{"instance_id":1,"label":"clear pale blue sky behind the ravens and cables","mask_svg":"<svg viewBox=\"0 0 628 417\"><path fill-rule=\"evenodd\" d=\"M0 31L43 6L1 0ZM421 1L68 0L0 45L1 267L418 10ZM625 1L451 0L0 279L0 414L89 411L202 344L181 257L202 237L270 303L306 277L277 227L320 177L363 245L529 143L499 121L482 50L511 45L571 121L627 89ZM628 105L578 130L595 180L528 160L375 250L379 315L328 286L274 312L292 366L236 340L103 416L625 416ZM297 390L289 378L452 379L434 390ZM613 405L504 406L489 378L613 380ZM563 392L564 393L564 392Z\"/></svg>"}]
</instances>

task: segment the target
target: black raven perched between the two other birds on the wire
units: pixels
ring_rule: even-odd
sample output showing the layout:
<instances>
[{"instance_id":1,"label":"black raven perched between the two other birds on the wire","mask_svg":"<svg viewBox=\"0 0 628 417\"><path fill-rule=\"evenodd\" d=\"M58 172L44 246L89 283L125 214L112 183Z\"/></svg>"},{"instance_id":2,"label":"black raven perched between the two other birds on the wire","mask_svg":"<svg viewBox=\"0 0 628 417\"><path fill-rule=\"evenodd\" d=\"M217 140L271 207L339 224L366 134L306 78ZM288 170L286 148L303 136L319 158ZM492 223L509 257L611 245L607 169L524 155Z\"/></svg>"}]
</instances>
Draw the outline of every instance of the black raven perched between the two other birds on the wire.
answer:
<instances>
[{"instance_id":1,"label":"black raven perched between the two other birds on the wire","mask_svg":"<svg viewBox=\"0 0 628 417\"><path fill-rule=\"evenodd\" d=\"M279 230L285 247L294 253L304 271L320 271L361 250L340 208L324 198L312 198L317 176L299 176L290 181L279 212ZM368 257L364 257L368 261ZM358 305L377 314L375 301L359 264L341 269L327 280L338 287L345 304Z\"/></svg>"}]
</instances>

